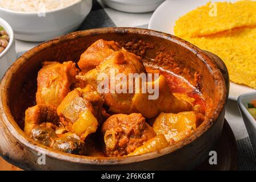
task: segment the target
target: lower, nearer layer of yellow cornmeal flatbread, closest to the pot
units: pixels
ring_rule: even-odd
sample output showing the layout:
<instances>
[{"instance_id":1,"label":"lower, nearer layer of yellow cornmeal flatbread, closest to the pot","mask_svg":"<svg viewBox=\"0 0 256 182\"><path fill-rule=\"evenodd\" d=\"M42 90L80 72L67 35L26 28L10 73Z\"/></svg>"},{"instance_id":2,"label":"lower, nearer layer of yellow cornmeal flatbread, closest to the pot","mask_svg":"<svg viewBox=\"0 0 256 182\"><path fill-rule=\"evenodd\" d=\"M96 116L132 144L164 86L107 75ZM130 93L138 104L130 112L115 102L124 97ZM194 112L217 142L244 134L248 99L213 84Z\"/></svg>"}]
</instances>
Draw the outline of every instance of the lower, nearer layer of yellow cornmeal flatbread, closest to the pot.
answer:
<instances>
[{"instance_id":1,"label":"lower, nearer layer of yellow cornmeal flatbread, closest to the pot","mask_svg":"<svg viewBox=\"0 0 256 182\"><path fill-rule=\"evenodd\" d=\"M256 89L256 28L234 28L218 35L185 39L221 57L231 81Z\"/></svg>"}]
</instances>

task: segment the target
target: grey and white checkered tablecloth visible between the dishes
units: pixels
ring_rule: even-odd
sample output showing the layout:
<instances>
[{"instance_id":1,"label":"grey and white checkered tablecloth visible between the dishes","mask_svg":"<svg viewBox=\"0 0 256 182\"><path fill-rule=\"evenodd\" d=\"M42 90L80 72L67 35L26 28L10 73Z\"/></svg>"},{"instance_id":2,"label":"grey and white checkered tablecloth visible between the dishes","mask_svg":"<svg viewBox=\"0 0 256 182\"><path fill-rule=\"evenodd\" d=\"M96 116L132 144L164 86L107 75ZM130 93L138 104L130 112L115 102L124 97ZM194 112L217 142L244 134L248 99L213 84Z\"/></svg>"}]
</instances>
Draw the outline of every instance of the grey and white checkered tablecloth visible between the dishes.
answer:
<instances>
[{"instance_id":1,"label":"grey and white checkered tablecloth visible between the dishes","mask_svg":"<svg viewBox=\"0 0 256 182\"><path fill-rule=\"evenodd\" d=\"M78 30L102 27L140 27L147 28L153 13L123 13L103 5L101 0L93 0L93 9ZM20 52L18 55L22 55ZM238 145L238 169L256 170L256 155L251 146L245 125L238 110L237 103L229 101L226 119L235 134Z\"/></svg>"}]
</instances>

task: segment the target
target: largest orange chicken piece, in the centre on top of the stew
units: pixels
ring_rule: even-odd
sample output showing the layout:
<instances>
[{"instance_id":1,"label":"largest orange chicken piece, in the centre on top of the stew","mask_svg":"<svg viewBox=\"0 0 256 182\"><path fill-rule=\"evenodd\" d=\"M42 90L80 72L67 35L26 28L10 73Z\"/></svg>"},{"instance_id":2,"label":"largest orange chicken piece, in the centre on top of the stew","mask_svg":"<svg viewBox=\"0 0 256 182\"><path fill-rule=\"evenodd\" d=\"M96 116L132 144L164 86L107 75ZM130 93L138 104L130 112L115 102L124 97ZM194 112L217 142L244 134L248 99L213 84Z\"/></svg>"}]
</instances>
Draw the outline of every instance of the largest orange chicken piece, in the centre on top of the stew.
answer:
<instances>
[{"instance_id":1,"label":"largest orange chicken piece, in the centre on top of the stew","mask_svg":"<svg viewBox=\"0 0 256 182\"><path fill-rule=\"evenodd\" d=\"M122 93L117 93L115 88L121 88L117 86L120 84L120 79L115 77L115 88L111 90L111 75L117 75L122 73L126 77L126 84L122 87ZM190 111L192 106L186 101L180 101L170 92L169 86L162 75L153 82L147 82L147 84L159 85L159 97L155 100L149 100L149 93L142 92L142 85L135 86L129 85L129 74L145 73L145 67L137 56L133 53L129 53L124 49L122 51L114 52L103 63L99 64L97 68L87 72L85 75L77 76L78 79L83 80L86 83L90 83L95 89L101 89L102 85L107 87L107 90L101 92L105 100L105 104L109 106L109 110L113 113L142 113L146 118L157 117L161 111L166 113L178 113L180 111ZM107 80L107 85L99 77L103 77ZM107 78L106 78L107 77ZM103 82L103 84L102 84ZM123 80L125 82L125 80ZM121 83L123 83L121 82ZM122 85L123 86L123 85ZM125 88L126 87L126 88ZM131 88L132 92L129 92ZM137 90L135 91L135 88Z\"/></svg>"}]
</instances>

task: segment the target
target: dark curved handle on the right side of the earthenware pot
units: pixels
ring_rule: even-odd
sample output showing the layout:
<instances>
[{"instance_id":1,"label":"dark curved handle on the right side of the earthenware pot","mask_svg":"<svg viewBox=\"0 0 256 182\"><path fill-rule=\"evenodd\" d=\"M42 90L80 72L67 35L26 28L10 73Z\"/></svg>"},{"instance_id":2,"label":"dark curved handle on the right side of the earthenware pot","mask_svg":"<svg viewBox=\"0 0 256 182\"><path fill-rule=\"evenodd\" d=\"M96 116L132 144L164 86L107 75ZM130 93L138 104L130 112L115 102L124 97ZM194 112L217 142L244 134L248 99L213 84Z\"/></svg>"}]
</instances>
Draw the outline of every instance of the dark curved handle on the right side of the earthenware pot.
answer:
<instances>
[{"instance_id":1,"label":"dark curved handle on the right side of the earthenware pot","mask_svg":"<svg viewBox=\"0 0 256 182\"><path fill-rule=\"evenodd\" d=\"M207 56L209 56L211 58L211 60L214 60L215 63L217 64L219 70L221 71L225 83L226 83L226 88L227 88L227 93L229 94L229 71L227 71L227 67L225 65L225 63L222 61L222 59L215 55L214 53L211 53L209 51L203 51L206 53Z\"/></svg>"}]
</instances>

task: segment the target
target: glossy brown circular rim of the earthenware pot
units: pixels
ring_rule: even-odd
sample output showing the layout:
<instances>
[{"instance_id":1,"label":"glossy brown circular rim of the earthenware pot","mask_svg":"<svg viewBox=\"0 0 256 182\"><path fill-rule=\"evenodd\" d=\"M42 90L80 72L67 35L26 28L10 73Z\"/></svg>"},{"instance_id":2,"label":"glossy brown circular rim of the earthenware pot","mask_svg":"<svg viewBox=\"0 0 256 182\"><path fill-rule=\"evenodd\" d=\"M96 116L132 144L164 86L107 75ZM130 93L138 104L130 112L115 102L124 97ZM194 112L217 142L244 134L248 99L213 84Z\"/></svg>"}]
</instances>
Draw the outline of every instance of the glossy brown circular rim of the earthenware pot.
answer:
<instances>
[{"instance_id":1,"label":"glossy brown circular rim of the earthenware pot","mask_svg":"<svg viewBox=\"0 0 256 182\"><path fill-rule=\"evenodd\" d=\"M82 155L71 155L60 151L55 151L52 148L43 146L40 143L35 142L33 139L28 137L18 126L15 122L14 118L12 117L10 108L8 106L8 88L10 85L10 80L13 76L13 72L17 71L19 68L19 64L26 64L26 60L28 60L31 56L34 56L39 50L44 48L49 48L54 44L70 39L79 38L81 36L87 35L99 35L99 34L141 34L141 35L150 35L155 36L161 39L169 40L173 43L179 44L194 53L203 63L206 65L207 69L211 73L214 78L214 102L218 103L213 110L209 118L207 118L189 137L177 142L176 144L162 148L161 150L149 152L147 154L136 155L136 156L123 156L117 158L106 158L106 157L91 157L91 156L82 156ZM31 150L35 152L40 152L41 154L45 154L50 158L55 158L58 160L65 160L67 162L73 163L81 163L81 164L92 164L92 165L117 165L117 164L127 164L127 163L135 163L135 162L142 162L144 160L150 160L154 158L159 158L160 156L170 154L171 152L179 150L184 146L187 146L195 139L201 137L213 123L218 119L219 115L221 114L222 110L225 107L225 103L227 100L227 89L225 85L225 80L221 71L218 69L217 65L214 63L213 60L210 59L206 53L204 53L201 49L194 46L193 44L186 42L185 40L178 38L174 35L166 34L163 32L158 32L154 30L148 30L144 28L128 28L128 27L111 27L111 28L97 28L97 29L90 29L85 31L77 31L72 32L67 35L59 36L58 38L51 39L47 42L40 44L30 51L27 51L23 56L19 57L13 65L8 69L5 76L2 78L2 82L0 85L0 114L2 115L2 121L7 126L9 132L13 135L15 139L17 139L21 144L29 147Z\"/></svg>"}]
</instances>

